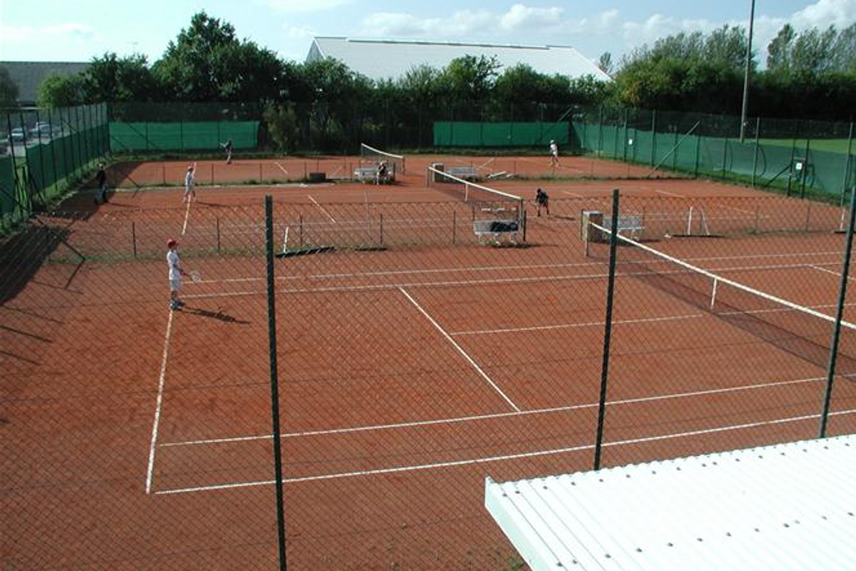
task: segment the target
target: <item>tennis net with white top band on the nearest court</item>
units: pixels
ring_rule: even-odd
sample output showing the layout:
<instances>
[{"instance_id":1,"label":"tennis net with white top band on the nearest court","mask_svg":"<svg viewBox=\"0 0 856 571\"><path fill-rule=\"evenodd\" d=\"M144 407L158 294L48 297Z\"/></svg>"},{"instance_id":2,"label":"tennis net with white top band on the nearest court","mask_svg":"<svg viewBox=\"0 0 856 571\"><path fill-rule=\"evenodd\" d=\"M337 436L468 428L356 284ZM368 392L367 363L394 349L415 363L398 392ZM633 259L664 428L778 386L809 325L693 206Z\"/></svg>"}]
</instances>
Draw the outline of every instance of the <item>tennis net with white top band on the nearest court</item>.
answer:
<instances>
[{"instance_id":1,"label":"tennis net with white top band on the nearest court","mask_svg":"<svg viewBox=\"0 0 856 571\"><path fill-rule=\"evenodd\" d=\"M609 259L610 230L590 223L586 252ZM616 269L817 366L829 363L835 318L722 277L619 234ZM824 306L826 307L826 306ZM830 311L832 306L826 307ZM842 321L837 374L856 373L856 324Z\"/></svg>"}]
</instances>

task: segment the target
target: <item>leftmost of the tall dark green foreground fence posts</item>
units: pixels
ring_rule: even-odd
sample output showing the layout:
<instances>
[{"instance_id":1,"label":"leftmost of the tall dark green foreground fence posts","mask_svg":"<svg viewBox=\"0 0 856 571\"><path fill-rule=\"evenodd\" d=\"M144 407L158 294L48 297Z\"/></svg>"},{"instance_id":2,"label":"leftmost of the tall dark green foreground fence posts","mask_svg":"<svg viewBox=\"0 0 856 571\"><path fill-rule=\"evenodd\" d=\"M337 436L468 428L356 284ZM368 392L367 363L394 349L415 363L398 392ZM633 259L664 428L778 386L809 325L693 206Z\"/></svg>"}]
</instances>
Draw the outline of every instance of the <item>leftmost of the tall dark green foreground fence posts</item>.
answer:
<instances>
[{"instance_id":1,"label":"leftmost of the tall dark green foreground fence posts","mask_svg":"<svg viewBox=\"0 0 856 571\"><path fill-rule=\"evenodd\" d=\"M276 539L279 568L285 571L285 512L282 499L282 437L279 423L279 378L276 365L276 277L274 276L273 198L265 196L265 246L267 253L268 350L270 359L270 422L273 427L273 461L276 482Z\"/></svg>"}]
</instances>

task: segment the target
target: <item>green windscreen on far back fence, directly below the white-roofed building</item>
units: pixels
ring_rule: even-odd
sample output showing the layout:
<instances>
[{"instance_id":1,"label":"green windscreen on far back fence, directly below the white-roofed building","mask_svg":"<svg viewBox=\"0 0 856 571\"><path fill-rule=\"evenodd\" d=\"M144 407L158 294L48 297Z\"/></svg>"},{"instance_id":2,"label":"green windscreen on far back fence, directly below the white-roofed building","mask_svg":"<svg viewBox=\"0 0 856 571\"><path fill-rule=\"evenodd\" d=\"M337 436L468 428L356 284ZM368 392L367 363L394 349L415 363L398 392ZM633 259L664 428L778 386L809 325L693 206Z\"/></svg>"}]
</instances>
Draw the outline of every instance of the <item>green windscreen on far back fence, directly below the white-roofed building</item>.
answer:
<instances>
[{"instance_id":1,"label":"green windscreen on far back fence, directly below the white-roofed building","mask_svg":"<svg viewBox=\"0 0 856 571\"><path fill-rule=\"evenodd\" d=\"M568 146L567 122L434 122L434 146Z\"/></svg>"}]
</instances>

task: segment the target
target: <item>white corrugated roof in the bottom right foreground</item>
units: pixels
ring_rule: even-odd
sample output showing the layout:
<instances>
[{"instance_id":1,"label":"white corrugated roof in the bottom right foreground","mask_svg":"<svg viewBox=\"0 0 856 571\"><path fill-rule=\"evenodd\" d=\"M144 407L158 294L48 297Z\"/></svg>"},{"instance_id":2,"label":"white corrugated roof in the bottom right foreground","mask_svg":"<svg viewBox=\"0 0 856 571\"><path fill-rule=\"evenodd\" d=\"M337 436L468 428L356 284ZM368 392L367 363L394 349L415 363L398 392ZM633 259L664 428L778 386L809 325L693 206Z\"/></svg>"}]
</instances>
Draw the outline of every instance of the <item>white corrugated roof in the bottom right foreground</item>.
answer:
<instances>
[{"instance_id":1,"label":"white corrugated roof in the bottom right foreground","mask_svg":"<svg viewBox=\"0 0 856 571\"><path fill-rule=\"evenodd\" d=\"M485 485L532 571L856 568L856 436Z\"/></svg>"}]
</instances>

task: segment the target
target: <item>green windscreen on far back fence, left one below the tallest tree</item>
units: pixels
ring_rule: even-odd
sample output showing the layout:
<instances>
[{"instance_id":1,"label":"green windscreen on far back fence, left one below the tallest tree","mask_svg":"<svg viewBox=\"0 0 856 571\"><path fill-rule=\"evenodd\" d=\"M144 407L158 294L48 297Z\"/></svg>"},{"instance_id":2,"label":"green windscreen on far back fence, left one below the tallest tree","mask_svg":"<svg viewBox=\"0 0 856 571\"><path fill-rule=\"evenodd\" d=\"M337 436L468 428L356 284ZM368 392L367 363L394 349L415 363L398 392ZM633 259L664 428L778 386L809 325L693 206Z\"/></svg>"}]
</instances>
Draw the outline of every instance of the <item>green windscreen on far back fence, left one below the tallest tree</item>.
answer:
<instances>
[{"instance_id":1,"label":"green windscreen on far back fence, left one below the tallest tree","mask_svg":"<svg viewBox=\"0 0 856 571\"><path fill-rule=\"evenodd\" d=\"M259 122L110 122L114 152L212 151L229 139L235 149L256 148Z\"/></svg>"}]
</instances>

